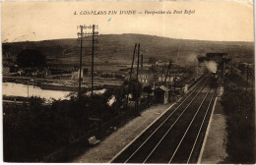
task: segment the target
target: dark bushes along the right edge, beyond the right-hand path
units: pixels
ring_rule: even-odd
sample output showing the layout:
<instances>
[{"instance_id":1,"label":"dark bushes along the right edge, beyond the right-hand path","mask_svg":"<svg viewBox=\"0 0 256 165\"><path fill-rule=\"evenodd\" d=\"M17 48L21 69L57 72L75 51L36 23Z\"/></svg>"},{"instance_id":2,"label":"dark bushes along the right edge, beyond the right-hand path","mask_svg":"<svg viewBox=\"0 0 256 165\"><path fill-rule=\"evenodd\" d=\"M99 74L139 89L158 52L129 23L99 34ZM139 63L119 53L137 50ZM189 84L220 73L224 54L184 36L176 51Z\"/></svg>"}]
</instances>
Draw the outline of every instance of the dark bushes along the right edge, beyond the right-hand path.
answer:
<instances>
[{"instance_id":1,"label":"dark bushes along the right edge, beyond the right-hand path","mask_svg":"<svg viewBox=\"0 0 256 165\"><path fill-rule=\"evenodd\" d=\"M255 163L252 91L227 84L224 86L222 105L227 116L227 163Z\"/></svg>"}]
</instances>

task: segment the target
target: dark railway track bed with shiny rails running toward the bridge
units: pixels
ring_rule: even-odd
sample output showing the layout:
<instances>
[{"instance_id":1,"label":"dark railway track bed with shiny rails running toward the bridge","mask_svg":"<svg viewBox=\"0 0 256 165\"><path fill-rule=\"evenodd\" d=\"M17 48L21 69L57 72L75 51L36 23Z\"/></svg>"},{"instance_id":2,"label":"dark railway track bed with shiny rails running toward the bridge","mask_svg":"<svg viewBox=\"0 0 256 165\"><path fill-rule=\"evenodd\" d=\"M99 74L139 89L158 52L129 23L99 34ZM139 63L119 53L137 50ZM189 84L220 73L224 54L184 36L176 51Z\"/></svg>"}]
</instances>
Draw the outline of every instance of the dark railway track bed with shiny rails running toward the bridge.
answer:
<instances>
[{"instance_id":1,"label":"dark railway track bed with shiny rails running toward the bridge","mask_svg":"<svg viewBox=\"0 0 256 165\"><path fill-rule=\"evenodd\" d=\"M201 79L173 109L120 151L112 163L196 163L216 89Z\"/></svg>"}]
</instances>

